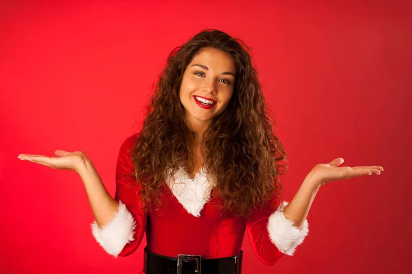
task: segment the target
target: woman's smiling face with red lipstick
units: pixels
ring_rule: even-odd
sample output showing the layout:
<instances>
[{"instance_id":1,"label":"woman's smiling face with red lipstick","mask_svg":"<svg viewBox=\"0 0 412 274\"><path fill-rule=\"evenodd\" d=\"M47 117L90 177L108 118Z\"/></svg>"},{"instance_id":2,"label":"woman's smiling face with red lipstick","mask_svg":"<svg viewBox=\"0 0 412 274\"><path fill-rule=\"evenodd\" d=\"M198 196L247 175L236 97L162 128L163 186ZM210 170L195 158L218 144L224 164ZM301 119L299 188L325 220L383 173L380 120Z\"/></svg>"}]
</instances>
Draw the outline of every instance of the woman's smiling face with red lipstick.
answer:
<instances>
[{"instance_id":1,"label":"woman's smiling face with red lipstick","mask_svg":"<svg viewBox=\"0 0 412 274\"><path fill-rule=\"evenodd\" d=\"M206 48L194 56L179 92L186 120L192 125L208 124L222 113L233 94L235 74L235 63L224 51Z\"/></svg>"}]
</instances>

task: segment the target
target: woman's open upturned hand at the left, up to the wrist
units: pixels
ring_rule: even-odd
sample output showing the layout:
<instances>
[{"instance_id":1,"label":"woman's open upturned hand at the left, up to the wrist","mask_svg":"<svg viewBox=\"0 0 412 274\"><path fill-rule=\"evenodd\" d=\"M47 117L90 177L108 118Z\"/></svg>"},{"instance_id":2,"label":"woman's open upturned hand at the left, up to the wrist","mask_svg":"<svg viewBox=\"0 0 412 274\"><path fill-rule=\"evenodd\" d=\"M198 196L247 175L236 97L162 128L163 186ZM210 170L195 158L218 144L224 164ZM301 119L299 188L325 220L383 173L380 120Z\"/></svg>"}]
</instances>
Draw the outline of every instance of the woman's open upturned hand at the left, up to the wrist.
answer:
<instances>
[{"instance_id":1,"label":"woman's open upturned hand at the left, up to the wrist","mask_svg":"<svg viewBox=\"0 0 412 274\"><path fill-rule=\"evenodd\" d=\"M47 157L45 155L19 154L20 160L28 160L36 164L43 164L52 169L71 169L78 172L80 167L87 162L87 156L82 151L56 150L54 154L58 157Z\"/></svg>"}]
</instances>

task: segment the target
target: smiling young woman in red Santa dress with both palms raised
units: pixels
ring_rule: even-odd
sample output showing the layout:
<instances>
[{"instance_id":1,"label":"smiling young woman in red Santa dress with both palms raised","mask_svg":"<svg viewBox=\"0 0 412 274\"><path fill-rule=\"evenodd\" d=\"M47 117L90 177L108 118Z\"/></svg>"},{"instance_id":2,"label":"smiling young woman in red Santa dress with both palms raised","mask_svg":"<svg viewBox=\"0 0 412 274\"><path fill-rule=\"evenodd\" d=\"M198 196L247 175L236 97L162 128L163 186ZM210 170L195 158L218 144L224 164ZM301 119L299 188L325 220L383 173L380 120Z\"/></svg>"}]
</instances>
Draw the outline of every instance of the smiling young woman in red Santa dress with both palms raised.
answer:
<instances>
[{"instance_id":1,"label":"smiling young woman in red Santa dress with both palms raised","mask_svg":"<svg viewBox=\"0 0 412 274\"><path fill-rule=\"evenodd\" d=\"M282 201L286 153L266 111L247 46L207 29L170 54L143 129L120 147L115 199L81 151L19 158L80 175L93 236L111 255L130 255L146 232L145 273L241 273L245 231L256 256L275 264L304 241L323 184L383 171L336 158Z\"/></svg>"}]
</instances>

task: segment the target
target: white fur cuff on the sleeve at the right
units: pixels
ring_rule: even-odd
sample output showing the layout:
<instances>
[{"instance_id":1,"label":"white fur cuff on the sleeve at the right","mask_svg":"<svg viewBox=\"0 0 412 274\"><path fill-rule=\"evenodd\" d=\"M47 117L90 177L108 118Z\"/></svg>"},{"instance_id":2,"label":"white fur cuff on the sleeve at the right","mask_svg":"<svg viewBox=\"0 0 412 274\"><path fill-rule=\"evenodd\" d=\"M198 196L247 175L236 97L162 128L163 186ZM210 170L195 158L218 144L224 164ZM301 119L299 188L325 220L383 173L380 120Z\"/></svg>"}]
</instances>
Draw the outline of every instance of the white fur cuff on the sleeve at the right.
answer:
<instances>
[{"instance_id":1,"label":"white fur cuff on the sleeve at the right","mask_svg":"<svg viewBox=\"0 0 412 274\"><path fill-rule=\"evenodd\" d=\"M305 219L302 228L295 227L293 221L286 219L284 210L288 202L284 201L278 210L269 216L268 232L269 237L277 249L286 255L293 255L295 249L300 245L306 235L308 235L308 221Z\"/></svg>"}]
</instances>

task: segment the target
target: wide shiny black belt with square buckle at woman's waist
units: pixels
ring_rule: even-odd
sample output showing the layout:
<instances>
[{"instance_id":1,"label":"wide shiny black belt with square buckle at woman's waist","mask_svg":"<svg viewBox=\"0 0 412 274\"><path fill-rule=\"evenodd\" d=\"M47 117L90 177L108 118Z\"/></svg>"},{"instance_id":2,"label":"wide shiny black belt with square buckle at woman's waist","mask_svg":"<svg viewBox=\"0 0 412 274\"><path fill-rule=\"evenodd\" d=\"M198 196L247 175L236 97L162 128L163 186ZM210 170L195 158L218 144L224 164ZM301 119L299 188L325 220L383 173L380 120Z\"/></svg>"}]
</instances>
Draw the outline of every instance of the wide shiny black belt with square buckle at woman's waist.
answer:
<instances>
[{"instance_id":1,"label":"wide shiny black belt with square buckle at woman's waist","mask_svg":"<svg viewBox=\"0 0 412 274\"><path fill-rule=\"evenodd\" d=\"M144 249L144 273L146 274L241 274L243 251L238 256L202 259L198 255L182 255L178 258L151 253Z\"/></svg>"}]
</instances>

